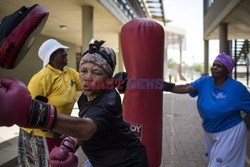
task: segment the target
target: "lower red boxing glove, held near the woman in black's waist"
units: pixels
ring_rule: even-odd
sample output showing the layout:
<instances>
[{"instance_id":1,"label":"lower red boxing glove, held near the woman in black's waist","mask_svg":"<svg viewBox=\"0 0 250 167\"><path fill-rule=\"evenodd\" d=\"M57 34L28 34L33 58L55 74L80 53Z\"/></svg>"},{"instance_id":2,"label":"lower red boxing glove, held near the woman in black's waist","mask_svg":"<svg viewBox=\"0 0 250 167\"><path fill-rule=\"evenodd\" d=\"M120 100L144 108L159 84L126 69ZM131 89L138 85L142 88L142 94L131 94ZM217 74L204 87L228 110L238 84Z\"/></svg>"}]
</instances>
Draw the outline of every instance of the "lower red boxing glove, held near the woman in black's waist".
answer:
<instances>
[{"instance_id":1,"label":"lower red boxing glove, held near the woman in black's waist","mask_svg":"<svg viewBox=\"0 0 250 167\"><path fill-rule=\"evenodd\" d=\"M78 158L74 154L78 146L70 137L65 137L60 147L55 147L49 154L51 167L77 167Z\"/></svg>"}]
</instances>

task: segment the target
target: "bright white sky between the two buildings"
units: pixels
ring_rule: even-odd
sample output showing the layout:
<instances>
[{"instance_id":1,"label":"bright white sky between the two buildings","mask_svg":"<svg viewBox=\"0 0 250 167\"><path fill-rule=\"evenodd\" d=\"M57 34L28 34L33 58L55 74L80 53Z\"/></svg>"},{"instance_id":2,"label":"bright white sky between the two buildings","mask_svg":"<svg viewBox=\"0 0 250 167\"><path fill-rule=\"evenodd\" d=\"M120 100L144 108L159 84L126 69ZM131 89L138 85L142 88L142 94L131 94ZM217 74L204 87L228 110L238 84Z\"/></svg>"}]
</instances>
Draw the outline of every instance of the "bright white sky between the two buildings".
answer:
<instances>
[{"instance_id":1,"label":"bright white sky between the two buildings","mask_svg":"<svg viewBox=\"0 0 250 167\"><path fill-rule=\"evenodd\" d=\"M186 51L182 61L188 65L204 62L203 0L163 0L167 25L176 26L186 32ZM166 25L166 26L167 26ZM209 42L209 62L218 53L218 41ZM176 55L177 54L177 55ZM179 61L179 52L168 52L168 58Z\"/></svg>"}]
</instances>

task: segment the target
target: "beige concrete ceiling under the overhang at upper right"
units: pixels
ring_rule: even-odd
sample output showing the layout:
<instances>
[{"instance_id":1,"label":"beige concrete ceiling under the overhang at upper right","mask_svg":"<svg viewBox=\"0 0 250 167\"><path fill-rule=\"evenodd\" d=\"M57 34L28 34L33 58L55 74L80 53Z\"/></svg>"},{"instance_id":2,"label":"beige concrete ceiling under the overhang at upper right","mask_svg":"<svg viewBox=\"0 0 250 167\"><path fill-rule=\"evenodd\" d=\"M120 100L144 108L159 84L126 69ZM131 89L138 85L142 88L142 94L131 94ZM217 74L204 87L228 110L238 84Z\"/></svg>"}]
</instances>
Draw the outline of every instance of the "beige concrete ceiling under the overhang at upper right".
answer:
<instances>
[{"instance_id":1,"label":"beige concrete ceiling under the overhang at upper right","mask_svg":"<svg viewBox=\"0 0 250 167\"><path fill-rule=\"evenodd\" d=\"M228 39L250 39L250 0L240 2L222 21L228 23ZM206 39L218 39L216 27Z\"/></svg>"}]
</instances>

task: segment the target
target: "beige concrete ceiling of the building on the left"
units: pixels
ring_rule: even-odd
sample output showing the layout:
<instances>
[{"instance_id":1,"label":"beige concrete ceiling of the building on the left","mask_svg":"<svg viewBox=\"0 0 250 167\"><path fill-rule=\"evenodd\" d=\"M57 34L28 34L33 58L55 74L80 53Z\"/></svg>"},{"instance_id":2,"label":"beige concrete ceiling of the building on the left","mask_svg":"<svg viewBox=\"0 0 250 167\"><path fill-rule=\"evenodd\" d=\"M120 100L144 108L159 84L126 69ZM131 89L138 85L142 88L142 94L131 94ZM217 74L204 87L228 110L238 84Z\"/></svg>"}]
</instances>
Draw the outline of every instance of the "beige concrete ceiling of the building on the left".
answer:
<instances>
[{"instance_id":1,"label":"beige concrete ceiling of the building on the left","mask_svg":"<svg viewBox=\"0 0 250 167\"><path fill-rule=\"evenodd\" d=\"M119 22L97 0L0 0L0 20L13 13L22 6L30 7L39 4L46 8L50 14L41 34L73 43L82 44L81 6L93 7L94 38L108 39L108 45L118 49L118 33L122 27ZM61 29L60 26L67 26ZM116 35L117 38L110 38Z\"/></svg>"}]
</instances>

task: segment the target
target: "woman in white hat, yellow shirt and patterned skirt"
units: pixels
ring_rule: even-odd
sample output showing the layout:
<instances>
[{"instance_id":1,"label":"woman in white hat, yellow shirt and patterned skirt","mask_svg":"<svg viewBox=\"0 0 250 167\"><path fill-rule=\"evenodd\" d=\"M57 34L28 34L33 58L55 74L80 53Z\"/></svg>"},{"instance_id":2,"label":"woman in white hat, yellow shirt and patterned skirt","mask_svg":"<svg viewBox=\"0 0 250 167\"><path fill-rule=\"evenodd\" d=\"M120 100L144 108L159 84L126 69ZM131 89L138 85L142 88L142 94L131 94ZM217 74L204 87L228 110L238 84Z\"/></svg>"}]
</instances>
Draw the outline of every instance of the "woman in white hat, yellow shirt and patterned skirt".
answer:
<instances>
[{"instance_id":1,"label":"woman in white hat, yellow shirt and patterned skirt","mask_svg":"<svg viewBox=\"0 0 250 167\"><path fill-rule=\"evenodd\" d=\"M33 98L44 96L57 111L70 115L76 102L76 92L82 90L79 73L67 66L69 47L55 39L45 41L38 55L43 69L28 84ZM40 99L41 100L41 99ZM62 142L60 136L38 129L21 128L18 142L18 162L21 166L49 166L48 153Z\"/></svg>"}]
</instances>

